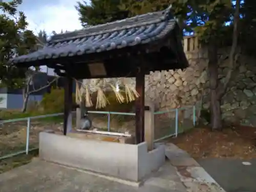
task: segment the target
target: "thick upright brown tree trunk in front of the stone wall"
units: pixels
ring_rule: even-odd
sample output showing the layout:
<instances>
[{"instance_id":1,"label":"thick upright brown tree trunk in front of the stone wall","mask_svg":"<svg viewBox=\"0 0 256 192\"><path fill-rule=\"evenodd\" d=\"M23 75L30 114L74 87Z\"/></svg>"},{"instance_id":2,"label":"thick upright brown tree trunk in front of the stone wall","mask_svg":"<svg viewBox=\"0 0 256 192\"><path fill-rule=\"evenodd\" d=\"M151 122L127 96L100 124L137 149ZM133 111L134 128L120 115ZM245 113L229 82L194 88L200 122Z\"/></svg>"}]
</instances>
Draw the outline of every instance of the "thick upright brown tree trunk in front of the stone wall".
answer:
<instances>
[{"instance_id":1,"label":"thick upright brown tree trunk in front of the stone wall","mask_svg":"<svg viewBox=\"0 0 256 192\"><path fill-rule=\"evenodd\" d=\"M212 44L208 46L208 58L210 83L210 125L212 130L222 130L221 100L218 93L218 55L215 42L212 42Z\"/></svg>"}]
</instances>

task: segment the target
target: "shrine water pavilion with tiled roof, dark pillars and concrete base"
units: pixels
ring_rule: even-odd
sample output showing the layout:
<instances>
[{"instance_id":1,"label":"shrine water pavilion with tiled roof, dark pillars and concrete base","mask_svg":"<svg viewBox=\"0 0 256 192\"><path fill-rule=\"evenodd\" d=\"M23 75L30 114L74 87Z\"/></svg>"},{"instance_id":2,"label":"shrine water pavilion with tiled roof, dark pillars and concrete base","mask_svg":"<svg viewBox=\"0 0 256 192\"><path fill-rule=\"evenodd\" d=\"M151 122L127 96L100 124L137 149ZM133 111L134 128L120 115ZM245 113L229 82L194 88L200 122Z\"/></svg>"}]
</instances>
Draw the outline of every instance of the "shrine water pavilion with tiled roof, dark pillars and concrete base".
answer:
<instances>
[{"instance_id":1,"label":"shrine water pavilion with tiled roof, dark pillars and concrete base","mask_svg":"<svg viewBox=\"0 0 256 192\"><path fill-rule=\"evenodd\" d=\"M44 48L13 58L11 65L47 65L57 75L66 77L64 135L40 133L42 159L135 182L164 162L164 148L148 152L144 142L144 77L151 71L188 67L181 30L169 8L56 34ZM136 77L140 96L135 101L135 144L69 138L73 79L112 77Z\"/></svg>"}]
</instances>

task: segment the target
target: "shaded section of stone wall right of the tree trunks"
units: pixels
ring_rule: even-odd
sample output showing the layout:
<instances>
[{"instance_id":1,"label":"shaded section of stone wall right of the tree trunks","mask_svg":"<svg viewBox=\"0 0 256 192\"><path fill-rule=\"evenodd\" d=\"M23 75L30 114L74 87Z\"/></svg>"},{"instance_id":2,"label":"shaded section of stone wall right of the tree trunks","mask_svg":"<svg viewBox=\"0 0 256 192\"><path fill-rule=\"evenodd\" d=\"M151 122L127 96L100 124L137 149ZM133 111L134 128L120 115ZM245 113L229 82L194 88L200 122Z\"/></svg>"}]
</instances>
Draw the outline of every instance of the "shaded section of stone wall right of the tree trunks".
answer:
<instances>
[{"instance_id":1,"label":"shaded section of stone wall right of the tree trunks","mask_svg":"<svg viewBox=\"0 0 256 192\"><path fill-rule=\"evenodd\" d=\"M227 71L227 62L220 65L222 80ZM226 121L256 126L256 65L255 60L242 55L233 72L230 86L222 99L223 118ZM207 108L208 105L204 104Z\"/></svg>"}]
</instances>

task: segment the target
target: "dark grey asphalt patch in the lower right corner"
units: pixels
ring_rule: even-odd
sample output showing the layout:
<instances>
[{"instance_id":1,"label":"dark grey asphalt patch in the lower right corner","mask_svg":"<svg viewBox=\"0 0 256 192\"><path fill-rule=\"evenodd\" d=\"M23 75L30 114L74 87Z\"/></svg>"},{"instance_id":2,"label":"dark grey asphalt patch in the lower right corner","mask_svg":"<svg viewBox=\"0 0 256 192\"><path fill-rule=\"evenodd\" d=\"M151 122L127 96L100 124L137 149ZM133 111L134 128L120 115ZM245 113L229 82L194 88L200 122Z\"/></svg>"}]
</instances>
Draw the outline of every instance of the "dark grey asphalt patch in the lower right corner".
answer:
<instances>
[{"instance_id":1,"label":"dark grey asphalt patch in the lower right corner","mask_svg":"<svg viewBox=\"0 0 256 192\"><path fill-rule=\"evenodd\" d=\"M256 192L256 159L208 158L198 162L227 192Z\"/></svg>"}]
</instances>

